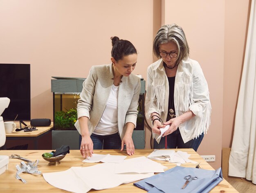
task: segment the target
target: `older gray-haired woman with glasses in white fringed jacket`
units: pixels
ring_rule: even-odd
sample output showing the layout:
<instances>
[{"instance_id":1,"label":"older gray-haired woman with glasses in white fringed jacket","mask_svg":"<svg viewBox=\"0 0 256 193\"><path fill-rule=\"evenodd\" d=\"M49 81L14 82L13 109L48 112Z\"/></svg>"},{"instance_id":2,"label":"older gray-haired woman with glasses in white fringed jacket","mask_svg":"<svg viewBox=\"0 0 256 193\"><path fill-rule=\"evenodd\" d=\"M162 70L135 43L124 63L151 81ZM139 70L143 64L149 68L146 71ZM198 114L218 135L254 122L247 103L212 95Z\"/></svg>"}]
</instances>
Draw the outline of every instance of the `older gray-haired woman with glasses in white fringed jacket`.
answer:
<instances>
[{"instance_id":1,"label":"older gray-haired woman with glasses in white fringed jacket","mask_svg":"<svg viewBox=\"0 0 256 193\"><path fill-rule=\"evenodd\" d=\"M189 58L183 29L176 24L162 26L153 53L159 60L148 66L145 105L146 117L152 120L154 148L197 151L209 129L211 103L202 69ZM170 127L156 140L166 125Z\"/></svg>"}]
</instances>

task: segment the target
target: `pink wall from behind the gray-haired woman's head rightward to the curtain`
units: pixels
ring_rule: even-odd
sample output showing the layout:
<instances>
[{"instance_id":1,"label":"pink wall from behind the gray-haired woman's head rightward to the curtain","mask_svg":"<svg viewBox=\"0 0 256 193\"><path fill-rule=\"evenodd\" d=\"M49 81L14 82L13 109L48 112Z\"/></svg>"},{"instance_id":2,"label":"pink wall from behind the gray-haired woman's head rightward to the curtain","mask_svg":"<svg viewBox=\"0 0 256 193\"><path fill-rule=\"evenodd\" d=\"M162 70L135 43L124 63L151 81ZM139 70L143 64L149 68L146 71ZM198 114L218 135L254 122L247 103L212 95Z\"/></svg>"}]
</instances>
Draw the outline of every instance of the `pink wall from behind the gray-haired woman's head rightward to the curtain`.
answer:
<instances>
[{"instance_id":1,"label":"pink wall from behind the gray-haired woman's head rightward to the curtain","mask_svg":"<svg viewBox=\"0 0 256 193\"><path fill-rule=\"evenodd\" d=\"M211 126L198 153L216 155L216 162L210 164L218 168L222 147L231 147L250 1L163 2L163 24L177 23L183 27L191 48L190 56L199 61L208 81ZM181 9L172 7L182 7L182 13Z\"/></svg>"}]
</instances>

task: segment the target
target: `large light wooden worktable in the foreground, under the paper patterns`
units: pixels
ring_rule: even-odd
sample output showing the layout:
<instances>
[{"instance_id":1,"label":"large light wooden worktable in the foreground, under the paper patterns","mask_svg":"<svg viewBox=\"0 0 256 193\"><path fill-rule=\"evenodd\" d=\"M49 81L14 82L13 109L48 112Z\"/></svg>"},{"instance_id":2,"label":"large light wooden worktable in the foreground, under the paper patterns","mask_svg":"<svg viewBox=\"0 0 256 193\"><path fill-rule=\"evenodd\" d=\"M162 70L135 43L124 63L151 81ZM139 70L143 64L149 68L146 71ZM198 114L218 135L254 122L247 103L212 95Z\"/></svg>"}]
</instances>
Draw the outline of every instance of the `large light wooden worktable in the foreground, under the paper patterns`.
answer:
<instances>
[{"instance_id":1,"label":"large light wooden worktable in the foreground, under the paper patterns","mask_svg":"<svg viewBox=\"0 0 256 193\"><path fill-rule=\"evenodd\" d=\"M194 160L196 162L200 162L200 167L203 169L209 169L213 170L213 168L203 159L201 158L193 149L179 149L181 151L186 151L189 154L191 154L190 158L191 160ZM11 154L19 154L22 157L29 158L32 161L39 160L38 164L38 170L42 173L47 172L56 172L56 171L65 171L69 169L70 167L88 167L92 166L94 164L100 164L100 163L85 163L82 162L84 160L80 154L79 150L70 150L70 154L67 154L63 160L61 160L61 164L57 166L49 166L48 162L45 161L41 155L45 152L49 152L52 150L0 150L0 155L6 155L10 156ZM129 158L135 158L139 156L148 156L153 149L135 149L135 154L133 156L128 156L126 159ZM177 149L176 149L177 151ZM125 151L119 151L119 150L94 150L95 154L111 154L111 155L124 155ZM20 164L21 160L18 159L10 159L8 165L8 170L2 173L0 175L0 192L19 192L19 193L34 193L34 192L67 192L61 189L57 189L54 186L48 184L42 175L32 175L29 173L22 173L20 174L21 178L24 178L27 183L24 184L20 180L17 180L15 178L16 175L16 165ZM168 169L171 169L176 166L176 164L164 162L164 161L157 161L156 162L161 163L162 165L168 167ZM182 167L195 167L196 164L186 163L182 164ZM91 174L90 174L91 175ZM120 186L117 186L112 189L105 189L101 191L91 190L90 192L106 192L106 193L142 193L146 192L142 189L137 188L132 183L129 184L121 184ZM231 186L225 179L216 186L211 193L238 193L236 189L234 189L233 186Z\"/></svg>"}]
</instances>

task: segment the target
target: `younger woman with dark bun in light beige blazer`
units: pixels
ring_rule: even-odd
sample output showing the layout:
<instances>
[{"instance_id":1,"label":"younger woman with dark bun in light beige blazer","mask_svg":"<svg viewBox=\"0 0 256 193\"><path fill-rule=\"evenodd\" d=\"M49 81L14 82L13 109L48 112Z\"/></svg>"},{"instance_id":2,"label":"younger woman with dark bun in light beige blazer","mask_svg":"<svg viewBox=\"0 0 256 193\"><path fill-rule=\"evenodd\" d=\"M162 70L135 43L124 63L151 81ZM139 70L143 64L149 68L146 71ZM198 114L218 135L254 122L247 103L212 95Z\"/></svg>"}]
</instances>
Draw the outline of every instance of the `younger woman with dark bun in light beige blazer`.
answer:
<instances>
[{"instance_id":1,"label":"younger woman with dark bun in light beige blazer","mask_svg":"<svg viewBox=\"0 0 256 193\"><path fill-rule=\"evenodd\" d=\"M75 126L84 158L93 149L124 149L134 154L140 79L132 74L137 50L128 40L111 37L111 64L92 66L77 105Z\"/></svg>"}]
</instances>

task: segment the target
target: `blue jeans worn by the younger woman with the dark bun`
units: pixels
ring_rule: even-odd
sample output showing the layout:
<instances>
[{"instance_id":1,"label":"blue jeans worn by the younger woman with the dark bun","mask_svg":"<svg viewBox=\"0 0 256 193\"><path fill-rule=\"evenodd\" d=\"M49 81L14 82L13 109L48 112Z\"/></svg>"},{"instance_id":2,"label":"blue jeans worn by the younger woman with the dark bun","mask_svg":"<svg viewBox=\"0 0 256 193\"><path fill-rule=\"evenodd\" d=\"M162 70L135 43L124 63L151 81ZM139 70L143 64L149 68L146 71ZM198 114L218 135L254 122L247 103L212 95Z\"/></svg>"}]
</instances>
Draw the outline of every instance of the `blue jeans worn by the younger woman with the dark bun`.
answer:
<instances>
[{"instance_id":1,"label":"blue jeans worn by the younger woman with the dark bun","mask_svg":"<svg viewBox=\"0 0 256 193\"><path fill-rule=\"evenodd\" d=\"M91 136L93 149L121 149L121 138L119 133L112 135L96 135ZM79 135L79 149L81 147L82 136Z\"/></svg>"}]
</instances>

